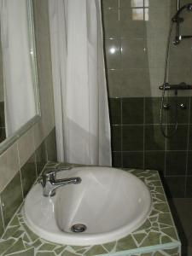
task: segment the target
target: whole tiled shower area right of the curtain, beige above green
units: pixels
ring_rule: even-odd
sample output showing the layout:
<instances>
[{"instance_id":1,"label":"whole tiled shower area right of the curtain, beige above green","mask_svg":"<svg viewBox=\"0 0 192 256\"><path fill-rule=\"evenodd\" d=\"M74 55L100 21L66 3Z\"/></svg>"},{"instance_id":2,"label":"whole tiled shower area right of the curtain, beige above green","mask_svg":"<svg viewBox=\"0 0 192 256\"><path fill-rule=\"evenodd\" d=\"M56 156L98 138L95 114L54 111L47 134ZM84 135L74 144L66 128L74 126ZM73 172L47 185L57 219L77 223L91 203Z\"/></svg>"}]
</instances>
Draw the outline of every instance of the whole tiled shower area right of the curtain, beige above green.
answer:
<instances>
[{"instance_id":1,"label":"whole tiled shower area right of the curtain, beige above green","mask_svg":"<svg viewBox=\"0 0 192 256\"><path fill-rule=\"evenodd\" d=\"M183 255L192 255L189 3L102 0L113 166L160 172Z\"/></svg>"}]
</instances>

